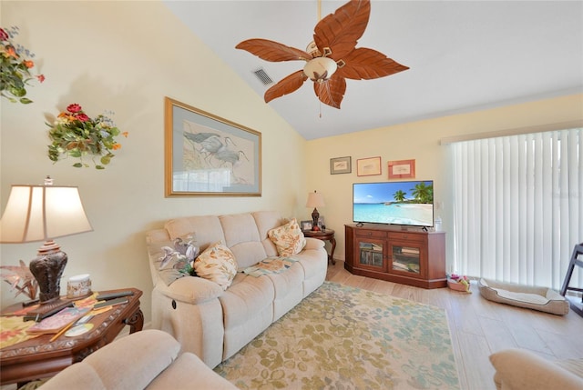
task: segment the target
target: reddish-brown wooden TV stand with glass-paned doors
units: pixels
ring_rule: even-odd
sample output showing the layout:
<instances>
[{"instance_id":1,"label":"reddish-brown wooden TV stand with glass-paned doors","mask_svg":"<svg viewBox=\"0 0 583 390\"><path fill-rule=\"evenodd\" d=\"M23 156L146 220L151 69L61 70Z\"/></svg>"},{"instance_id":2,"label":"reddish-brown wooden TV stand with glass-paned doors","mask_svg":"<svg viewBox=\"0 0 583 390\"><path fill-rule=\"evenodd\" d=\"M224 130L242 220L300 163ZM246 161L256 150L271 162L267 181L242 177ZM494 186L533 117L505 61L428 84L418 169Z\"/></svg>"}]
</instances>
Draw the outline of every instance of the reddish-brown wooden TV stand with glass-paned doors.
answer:
<instances>
[{"instance_id":1,"label":"reddish-brown wooden TV stand with glass-paned doors","mask_svg":"<svg viewBox=\"0 0 583 390\"><path fill-rule=\"evenodd\" d=\"M344 268L423 288L447 286L445 233L398 230L390 225L344 225Z\"/></svg>"}]
</instances>

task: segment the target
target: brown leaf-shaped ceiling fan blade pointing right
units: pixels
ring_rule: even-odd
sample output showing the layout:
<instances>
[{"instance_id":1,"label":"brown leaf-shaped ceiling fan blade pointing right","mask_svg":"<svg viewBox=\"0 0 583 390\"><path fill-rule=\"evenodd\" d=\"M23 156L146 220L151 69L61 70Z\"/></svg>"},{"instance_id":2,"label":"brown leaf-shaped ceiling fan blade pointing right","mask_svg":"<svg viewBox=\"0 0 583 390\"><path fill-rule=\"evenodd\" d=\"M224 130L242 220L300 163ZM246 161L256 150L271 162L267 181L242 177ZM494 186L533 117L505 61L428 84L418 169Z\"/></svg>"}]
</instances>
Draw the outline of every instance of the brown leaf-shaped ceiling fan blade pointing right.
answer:
<instances>
[{"instance_id":1,"label":"brown leaf-shaped ceiling fan blade pointing right","mask_svg":"<svg viewBox=\"0 0 583 390\"><path fill-rule=\"evenodd\" d=\"M343 60L346 64L336 73L353 80L370 80L409 69L408 66L387 58L383 53L366 47L354 49L352 53L345 55Z\"/></svg>"}]
</instances>

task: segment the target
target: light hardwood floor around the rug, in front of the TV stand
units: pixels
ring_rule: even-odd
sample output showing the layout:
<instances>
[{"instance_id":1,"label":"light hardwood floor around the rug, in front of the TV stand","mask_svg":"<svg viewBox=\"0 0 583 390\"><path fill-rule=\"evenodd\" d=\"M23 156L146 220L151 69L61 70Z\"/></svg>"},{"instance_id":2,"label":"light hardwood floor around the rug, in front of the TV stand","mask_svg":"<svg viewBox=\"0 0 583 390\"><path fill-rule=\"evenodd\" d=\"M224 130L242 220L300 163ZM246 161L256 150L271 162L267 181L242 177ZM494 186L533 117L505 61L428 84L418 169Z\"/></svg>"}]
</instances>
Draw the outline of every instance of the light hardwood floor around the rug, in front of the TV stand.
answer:
<instances>
[{"instance_id":1,"label":"light hardwood floor around the rug, in front of the TV stand","mask_svg":"<svg viewBox=\"0 0 583 390\"><path fill-rule=\"evenodd\" d=\"M385 282L353 275L338 260L328 265L326 280L444 308L463 390L496 390L488 356L505 348L525 348L549 360L583 358L583 318L573 311L549 315L496 304L482 298L475 283L467 294Z\"/></svg>"}]
</instances>

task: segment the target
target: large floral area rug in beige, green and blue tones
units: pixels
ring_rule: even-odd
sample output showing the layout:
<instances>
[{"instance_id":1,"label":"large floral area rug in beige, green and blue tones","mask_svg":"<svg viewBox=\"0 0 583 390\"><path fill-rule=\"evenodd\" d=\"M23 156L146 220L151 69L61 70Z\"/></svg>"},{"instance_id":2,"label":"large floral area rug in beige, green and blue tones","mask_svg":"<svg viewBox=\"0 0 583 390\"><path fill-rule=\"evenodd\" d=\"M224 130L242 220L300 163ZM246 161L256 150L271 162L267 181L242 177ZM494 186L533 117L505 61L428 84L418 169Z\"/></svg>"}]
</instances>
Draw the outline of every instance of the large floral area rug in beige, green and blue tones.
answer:
<instances>
[{"instance_id":1,"label":"large floral area rug in beige, green and blue tones","mask_svg":"<svg viewBox=\"0 0 583 390\"><path fill-rule=\"evenodd\" d=\"M443 309L330 282L214 370L240 389L459 389Z\"/></svg>"}]
</instances>

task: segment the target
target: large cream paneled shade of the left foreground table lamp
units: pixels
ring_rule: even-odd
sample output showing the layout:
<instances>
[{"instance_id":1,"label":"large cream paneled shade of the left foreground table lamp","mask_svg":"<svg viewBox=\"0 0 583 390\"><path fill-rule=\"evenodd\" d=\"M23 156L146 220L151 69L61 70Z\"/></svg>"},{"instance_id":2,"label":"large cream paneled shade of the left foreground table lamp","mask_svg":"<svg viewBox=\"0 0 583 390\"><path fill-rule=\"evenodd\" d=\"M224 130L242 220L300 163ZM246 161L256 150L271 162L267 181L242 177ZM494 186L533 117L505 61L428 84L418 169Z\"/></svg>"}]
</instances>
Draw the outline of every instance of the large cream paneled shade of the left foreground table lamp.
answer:
<instances>
[{"instance_id":1,"label":"large cream paneled shade of the left foreground table lamp","mask_svg":"<svg viewBox=\"0 0 583 390\"><path fill-rule=\"evenodd\" d=\"M77 187L13 185L0 220L0 243L46 241L92 230Z\"/></svg>"}]
</instances>

